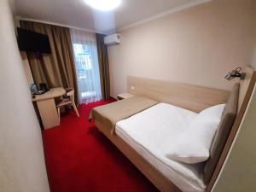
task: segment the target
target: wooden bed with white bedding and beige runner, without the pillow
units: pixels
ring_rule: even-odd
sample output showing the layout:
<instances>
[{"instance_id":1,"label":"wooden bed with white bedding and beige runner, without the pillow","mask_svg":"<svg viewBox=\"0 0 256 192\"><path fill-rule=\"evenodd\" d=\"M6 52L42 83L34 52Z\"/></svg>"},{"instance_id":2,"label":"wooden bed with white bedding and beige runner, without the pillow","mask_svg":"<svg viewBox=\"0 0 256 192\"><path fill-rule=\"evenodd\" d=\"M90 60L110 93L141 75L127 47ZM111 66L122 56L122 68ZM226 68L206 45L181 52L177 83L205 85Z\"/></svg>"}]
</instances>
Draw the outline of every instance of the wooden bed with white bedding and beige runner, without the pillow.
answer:
<instances>
[{"instance_id":1,"label":"wooden bed with white bedding and beige runner, without the pillow","mask_svg":"<svg viewBox=\"0 0 256 192\"><path fill-rule=\"evenodd\" d=\"M254 81L255 75L253 73ZM249 81L251 82L251 78ZM175 92L172 88L170 91L165 87L159 93L154 90L154 87L159 89L159 86L156 86L159 82L151 81L147 84L144 79L136 79L132 83L128 81L128 87L129 84L136 84L137 92L132 93L137 96L94 108L91 111L91 118L95 119L96 127L160 191L210 191L218 175L219 164L223 163L224 152L227 153L226 145L230 143L230 135L234 134L236 128L233 126L234 121L236 119L235 126L238 126L241 113L245 110L245 103L238 106L238 101L241 101L239 84L236 84L230 93L173 83L171 85L175 87ZM163 84L165 83L161 82L161 86ZM247 95L251 91L250 84L247 84L247 94L245 99L242 99L243 102L247 102ZM145 90L147 85L150 87L148 93ZM193 90L197 93L191 93ZM166 93L166 91L169 92ZM158 93L155 94L155 92ZM178 94L180 95L177 96ZM196 96L198 94L199 96ZM166 95L168 95L166 99L163 98ZM187 96L190 100L184 102ZM226 106L212 141L209 159L198 164L187 164L166 158L165 146L172 145L172 139L186 130L189 123L204 108L220 103L226 103ZM126 111L125 108L128 110ZM237 111L239 111L238 118ZM156 127L158 131L155 131Z\"/></svg>"}]
</instances>

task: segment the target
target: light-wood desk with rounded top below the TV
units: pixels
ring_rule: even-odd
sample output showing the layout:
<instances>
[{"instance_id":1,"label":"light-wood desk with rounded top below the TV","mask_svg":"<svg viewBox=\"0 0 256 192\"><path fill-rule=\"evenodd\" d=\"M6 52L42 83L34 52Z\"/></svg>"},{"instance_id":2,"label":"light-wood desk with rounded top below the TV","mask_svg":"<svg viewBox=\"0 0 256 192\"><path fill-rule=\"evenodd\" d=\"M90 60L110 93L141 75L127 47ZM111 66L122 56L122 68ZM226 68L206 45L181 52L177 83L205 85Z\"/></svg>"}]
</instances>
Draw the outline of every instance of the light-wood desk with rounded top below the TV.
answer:
<instances>
[{"instance_id":1,"label":"light-wood desk with rounded top below the TV","mask_svg":"<svg viewBox=\"0 0 256 192\"><path fill-rule=\"evenodd\" d=\"M64 90L64 88L57 87L32 98L32 102L37 102L44 129L60 125L58 112L55 106L55 97L63 96L65 93L66 90Z\"/></svg>"}]
</instances>

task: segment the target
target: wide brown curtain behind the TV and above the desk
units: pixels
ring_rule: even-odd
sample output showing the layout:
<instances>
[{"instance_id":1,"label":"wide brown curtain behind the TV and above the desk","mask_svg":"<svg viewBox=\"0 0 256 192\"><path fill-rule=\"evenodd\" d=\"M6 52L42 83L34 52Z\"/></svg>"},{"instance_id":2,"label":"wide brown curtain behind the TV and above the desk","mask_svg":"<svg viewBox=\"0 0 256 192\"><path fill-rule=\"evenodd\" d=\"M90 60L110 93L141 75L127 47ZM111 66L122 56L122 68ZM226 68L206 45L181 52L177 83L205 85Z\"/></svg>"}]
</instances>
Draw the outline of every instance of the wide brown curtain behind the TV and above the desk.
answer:
<instances>
[{"instance_id":1,"label":"wide brown curtain behind the TV and above the desk","mask_svg":"<svg viewBox=\"0 0 256 192\"><path fill-rule=\"evenodd\" d=\"M20 20L20 27L48 35L51 54L27 53L36 84L46 83L49 88L72 87L77 93L75 66L70 31L66 27ZM77 96L76 96L77 98Z\"/></svg>"}]
</instances>

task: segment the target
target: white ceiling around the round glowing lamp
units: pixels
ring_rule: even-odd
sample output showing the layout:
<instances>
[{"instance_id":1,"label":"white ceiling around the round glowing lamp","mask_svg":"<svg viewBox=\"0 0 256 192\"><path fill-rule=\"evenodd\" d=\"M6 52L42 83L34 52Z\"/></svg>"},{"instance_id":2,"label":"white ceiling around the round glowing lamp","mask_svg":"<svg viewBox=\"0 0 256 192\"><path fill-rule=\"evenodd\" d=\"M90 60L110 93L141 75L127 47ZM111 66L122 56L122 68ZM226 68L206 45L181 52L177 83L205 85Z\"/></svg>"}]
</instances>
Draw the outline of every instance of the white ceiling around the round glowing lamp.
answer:
<instances>
[{"instance_id":1,"label":"white ceiling around the round glowing lamp","mask_svg":"<svg viewBox=\"0 0 256 192\"><path fill-rule=\"evenodd\" d=\"M102 12L91 9L84 0L15 0L15 15L109 33L206 1L122 0L118 9Z\"/></svg>"}]
</instances>

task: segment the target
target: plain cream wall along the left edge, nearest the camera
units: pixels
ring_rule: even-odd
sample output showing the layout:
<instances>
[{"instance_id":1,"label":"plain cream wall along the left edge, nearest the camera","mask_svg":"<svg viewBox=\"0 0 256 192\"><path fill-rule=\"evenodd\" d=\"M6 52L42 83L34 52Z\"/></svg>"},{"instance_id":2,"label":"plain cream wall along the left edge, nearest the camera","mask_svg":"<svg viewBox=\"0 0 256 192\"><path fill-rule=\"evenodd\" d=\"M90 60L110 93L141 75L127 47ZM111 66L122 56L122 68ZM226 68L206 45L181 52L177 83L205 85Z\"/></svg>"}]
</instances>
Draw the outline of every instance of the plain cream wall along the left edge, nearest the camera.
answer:
<instances>
[{"instance_id":1,"label":"plain cream wall along the left edge, nearest the camera","mask_svg":"<svg viewBox=\"0 0 256 192\"><path fill-rule=\"evenodd\" d=\"M38 120L8 0L0 1L0 191L49 192Z\"/></svg>"}]
</instances>

